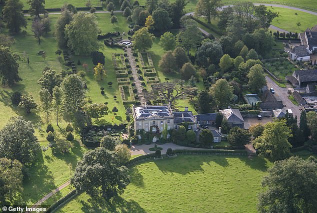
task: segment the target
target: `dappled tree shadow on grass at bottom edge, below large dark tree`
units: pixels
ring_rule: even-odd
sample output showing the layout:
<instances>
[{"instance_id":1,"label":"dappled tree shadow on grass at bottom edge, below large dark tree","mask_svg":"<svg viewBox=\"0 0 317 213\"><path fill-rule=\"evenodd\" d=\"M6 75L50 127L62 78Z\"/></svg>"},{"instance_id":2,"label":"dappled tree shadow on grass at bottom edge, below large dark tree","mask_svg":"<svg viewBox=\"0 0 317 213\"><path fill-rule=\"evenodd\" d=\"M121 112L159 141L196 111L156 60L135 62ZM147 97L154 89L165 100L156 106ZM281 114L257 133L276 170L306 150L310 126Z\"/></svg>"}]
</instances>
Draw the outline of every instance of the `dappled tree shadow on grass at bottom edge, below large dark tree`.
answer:
<instances>
[{"instance_id":1,"label":"dappled tree shadow on grass at bottom edge, below large dark tree","mask_svg":"<svg viewBox=\"0 0 317 213\"><path fill-rule=\"evenodd\" d=\"M93 197L87 199L87 201L81 200L81 210L83 212L146 212L137 202L134 200L126 200L120 196L112 197L109 200L101 197Z\"/></svg>"}]
</instances>

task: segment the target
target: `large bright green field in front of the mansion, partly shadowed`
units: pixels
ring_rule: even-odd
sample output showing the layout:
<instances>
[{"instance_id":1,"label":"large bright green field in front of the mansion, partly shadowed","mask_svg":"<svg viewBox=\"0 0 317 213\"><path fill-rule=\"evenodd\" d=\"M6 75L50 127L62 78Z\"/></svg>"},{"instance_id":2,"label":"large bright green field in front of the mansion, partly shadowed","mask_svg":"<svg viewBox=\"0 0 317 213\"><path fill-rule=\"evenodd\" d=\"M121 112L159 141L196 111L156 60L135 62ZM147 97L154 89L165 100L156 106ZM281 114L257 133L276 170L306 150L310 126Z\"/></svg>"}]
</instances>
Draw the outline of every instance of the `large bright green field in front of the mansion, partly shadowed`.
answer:
<instances>
[{"instance_id":1,"label":"large bright green field in front of the mansion, partly shadowed","mask_svg":"<svg viewBox=\"0 0 317 213\"><path fill-rule=\"evenodd\" d=\"M57 212L255 212L262 157L178 156L136 165L111 201L83 193Z\"/></svg>"}]
</instances>

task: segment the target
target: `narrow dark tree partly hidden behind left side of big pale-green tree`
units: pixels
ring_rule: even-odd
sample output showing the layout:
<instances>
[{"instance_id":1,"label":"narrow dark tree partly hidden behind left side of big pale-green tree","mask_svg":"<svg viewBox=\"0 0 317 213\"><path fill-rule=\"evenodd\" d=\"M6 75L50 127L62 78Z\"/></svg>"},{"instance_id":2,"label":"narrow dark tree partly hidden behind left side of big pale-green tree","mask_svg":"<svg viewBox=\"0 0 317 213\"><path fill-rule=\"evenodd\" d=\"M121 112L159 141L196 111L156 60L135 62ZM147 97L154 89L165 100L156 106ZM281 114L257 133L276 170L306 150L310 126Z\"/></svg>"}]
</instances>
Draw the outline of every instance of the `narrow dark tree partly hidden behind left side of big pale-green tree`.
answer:
<instances>
[{"instance_id":1,"label":"narrow dark tree partly hidden behind left side of big pale-green tree","mask_svg":"<svg viewBox=\"0 0 317 213\"><path fill-rule=\"evenodd\" d=\"M59 48L67 47L67 38L65 36L65 26L72 20L72 13L68 10L63 10L61 16L58 17L55 24L55 37Z\"/></svg>"}]
</instances>

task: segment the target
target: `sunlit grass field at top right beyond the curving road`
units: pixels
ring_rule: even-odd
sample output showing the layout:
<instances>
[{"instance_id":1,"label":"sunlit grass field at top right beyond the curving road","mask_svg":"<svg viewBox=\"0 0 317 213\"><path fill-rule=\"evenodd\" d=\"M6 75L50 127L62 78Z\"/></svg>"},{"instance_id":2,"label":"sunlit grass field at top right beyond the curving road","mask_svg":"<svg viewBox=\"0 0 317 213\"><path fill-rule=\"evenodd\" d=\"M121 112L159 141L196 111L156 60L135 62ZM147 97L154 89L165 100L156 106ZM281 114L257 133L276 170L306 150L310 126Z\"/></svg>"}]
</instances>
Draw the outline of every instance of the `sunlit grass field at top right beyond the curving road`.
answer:
<instances>
[{"instance_id":1,"label":"sunlit grass field at top right beyond the curving road","mask_svg":"<svg viewBox=\"0 0 317 213\"><path fill-rule=\"evenodd\" d=\"M311 5L311 7L313 6L316 6L316 4ZM271 24L286 31L301 33L307 28L312 28L317 23L317 16L308 13L285 8L272 7L270 9L278 13L278 17ZM297 22L300 22L301 26L297 27Z\"/></svg>"}]
</instances>

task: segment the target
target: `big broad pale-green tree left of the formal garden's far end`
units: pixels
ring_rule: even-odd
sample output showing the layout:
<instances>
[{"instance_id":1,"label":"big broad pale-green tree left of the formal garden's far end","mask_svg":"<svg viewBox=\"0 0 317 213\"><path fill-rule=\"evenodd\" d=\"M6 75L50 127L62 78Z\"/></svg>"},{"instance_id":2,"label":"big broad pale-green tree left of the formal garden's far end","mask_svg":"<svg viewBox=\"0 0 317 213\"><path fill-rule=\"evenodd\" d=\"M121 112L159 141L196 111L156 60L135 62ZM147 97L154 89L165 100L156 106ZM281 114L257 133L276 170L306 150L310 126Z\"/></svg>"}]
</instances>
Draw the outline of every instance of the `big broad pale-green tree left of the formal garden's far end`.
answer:
<instances>
[{"instance_id":1,"label":"big broad pale-green tree left of the formal garden's far end","mask_svg":"<svg viewBox=\"0 0 317 213\"><path fill-rule=\"evenodd\" d=\"M67 47L73 50L75 55L88 55L99 48L99 29L95 19L92 14L79 12L74 14L72 21L65 26Z\"/></svg>"}]
</instances>

